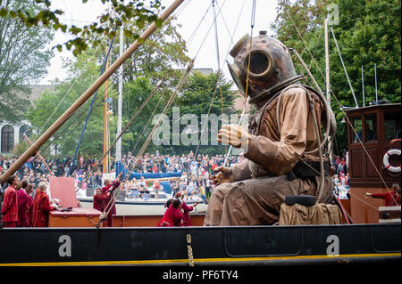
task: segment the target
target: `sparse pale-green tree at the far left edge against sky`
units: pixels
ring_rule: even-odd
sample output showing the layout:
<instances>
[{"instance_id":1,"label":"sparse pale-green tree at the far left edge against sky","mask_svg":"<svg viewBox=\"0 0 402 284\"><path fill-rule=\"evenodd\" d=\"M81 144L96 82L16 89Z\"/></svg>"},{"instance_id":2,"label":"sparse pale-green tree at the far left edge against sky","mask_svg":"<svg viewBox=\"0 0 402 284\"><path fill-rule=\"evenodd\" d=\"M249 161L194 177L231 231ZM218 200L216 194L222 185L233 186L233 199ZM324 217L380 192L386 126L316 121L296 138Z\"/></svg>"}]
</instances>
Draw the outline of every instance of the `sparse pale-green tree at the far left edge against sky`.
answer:
<instances>
[{"instance_id":1,"label":"sparse pale-green tree at the far left edge against sky","mask_svg":"<svg viewBox=\"0 0 402 284\"><path fill-rule=\"evenodd\" d=\"M40 6L30 0L6 0L0 7L40 11ZM46 45L52 39L49 28L29 28L12 16L0 17L0 120L16 122L24 117L29 105L27 85L46 75L53 55Z\"/></svg>"}]
</instances>

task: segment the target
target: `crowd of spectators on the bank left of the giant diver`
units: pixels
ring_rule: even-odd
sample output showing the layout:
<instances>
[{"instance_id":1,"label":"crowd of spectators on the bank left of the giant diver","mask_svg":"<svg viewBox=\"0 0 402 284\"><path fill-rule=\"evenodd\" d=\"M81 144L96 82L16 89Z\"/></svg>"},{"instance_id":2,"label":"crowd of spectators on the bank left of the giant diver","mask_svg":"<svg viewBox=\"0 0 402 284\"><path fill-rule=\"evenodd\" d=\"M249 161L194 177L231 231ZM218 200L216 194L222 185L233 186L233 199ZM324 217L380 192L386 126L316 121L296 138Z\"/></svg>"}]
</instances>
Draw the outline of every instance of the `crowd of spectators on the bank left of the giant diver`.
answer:
<instances>
[{"instance_id":1,"label":"crowd of spectators on the bank left of the giant diver","mask_svg":"<svg viewBox=\"0 0 402 284\"><path fill-rule=\"evenodd\" d=\"M0 155L0 173L3 174L17 158L4 158ZM239 162L241 158L242 156L231 156L226 166ZM171 182L172 193L184 191L186 196L203 193L206 198L210 196L214 188L210 180L211 174L213 174L214 168L222 166L223 162L224 156L221 154L211 157L208 154L197 154L196 156L192 151L187 155L161 155L156 150L155 154L147 153L139 158L129 152L121 158L124 168L137 173L181 172L180 179ZM83 192L102 186L103 165L96 158L78 158L73 171L71 171L71 165L71 158L47 158L43 162L41 158L34 157L21 166L15 174L21 180L28 180L34 187L38 186L40 179L46 178L48 181L52 175L74 177L76 185ZM108 172L114 173L115 167L116 164L112 161ZM126 191L127 198L136 198L138 194L141 194L140 182L131 180L121 184L121 188Z\"/></svg>"}]
</instances>

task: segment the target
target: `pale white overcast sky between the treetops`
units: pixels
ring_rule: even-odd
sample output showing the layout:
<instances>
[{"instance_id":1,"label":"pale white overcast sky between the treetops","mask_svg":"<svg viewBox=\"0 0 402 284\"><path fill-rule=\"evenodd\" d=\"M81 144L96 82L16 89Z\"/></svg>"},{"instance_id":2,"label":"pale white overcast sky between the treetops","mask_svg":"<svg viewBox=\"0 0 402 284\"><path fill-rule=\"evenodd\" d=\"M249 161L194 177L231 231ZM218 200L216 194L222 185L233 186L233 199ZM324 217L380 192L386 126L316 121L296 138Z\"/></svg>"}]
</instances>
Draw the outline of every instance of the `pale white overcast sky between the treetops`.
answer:
<instances>
[{"instance_id":1,"label":"pale white overcast sky between the treetops","mask_svg":"<svg viewBox=\"0 0 402 284\"><path fill-rule=\"evenodd\" d=\"M173 0L162 0L162 3L168 7ZM181 25L179 29L181 36L188 42L188 56L196 58L194 68L210 68L214 71L220 68L225 77L230 78L225 61L232 61L229 55L231 47L245 34L252 33L253 37L256 37L260 30L266 30L268 35L272 35L270 26L276 17L277 1L255 1L255 20L252 30L252 0L215 0L217 37L214 33L214 9L211 4L212 0L185 0L175 11L175 15L178 16L177 23ZM209 10L208 7L210 7ZM101 0L88 0L86 4L83 4L82 0L52 0L51 5L51 9L63 10L64 23L76 26L96 20L106 8L107 6L102 4ZM193 34L194 36L191 37ZM51 45L63 44L69 38L71 36L57 32ZM48 75L41 79L39 84L48 85L54 78L65 78L63 59L67 58L73 58L70 51L65 48L62 53L54 50L54 58L50 61Z\"/></svg>"}]
</instances>

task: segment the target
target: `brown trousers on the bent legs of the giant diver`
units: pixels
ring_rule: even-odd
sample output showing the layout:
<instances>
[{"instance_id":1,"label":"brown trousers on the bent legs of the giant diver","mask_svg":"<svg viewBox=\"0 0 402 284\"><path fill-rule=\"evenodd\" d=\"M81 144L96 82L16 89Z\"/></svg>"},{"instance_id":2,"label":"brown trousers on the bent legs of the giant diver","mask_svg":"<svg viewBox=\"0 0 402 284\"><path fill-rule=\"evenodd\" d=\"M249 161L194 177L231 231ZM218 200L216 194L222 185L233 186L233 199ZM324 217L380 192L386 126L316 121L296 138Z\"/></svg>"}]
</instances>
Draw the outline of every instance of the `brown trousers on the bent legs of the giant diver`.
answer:
<instances>
[{"instance_id":1,"label":"brown trousers on the bent legs of the giant diver","mask_svg":"<svg viewBox=\"0 0 402 284\"><path fill-rule=\"evenodd\" d=\"M320 177L288 181L285 174L222 183L214 189L205 215L205 226L264 225L279 221L287 195L318 196ZM325 177L322 200L331 197L332 182ZM322 202L322 200L317 200Z\"/></svg>"}]
</instances>

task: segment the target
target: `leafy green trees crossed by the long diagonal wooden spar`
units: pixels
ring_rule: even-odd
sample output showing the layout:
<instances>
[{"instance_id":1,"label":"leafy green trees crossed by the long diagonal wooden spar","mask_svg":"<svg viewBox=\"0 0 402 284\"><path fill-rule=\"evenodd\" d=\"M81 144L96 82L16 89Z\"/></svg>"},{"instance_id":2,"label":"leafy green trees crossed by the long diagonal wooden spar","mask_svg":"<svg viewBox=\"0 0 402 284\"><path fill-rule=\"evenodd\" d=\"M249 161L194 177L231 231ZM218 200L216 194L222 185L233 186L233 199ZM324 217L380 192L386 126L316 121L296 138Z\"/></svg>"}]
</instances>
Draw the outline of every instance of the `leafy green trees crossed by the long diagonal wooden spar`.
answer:
<instances>
[{"instance_id":1,"label":"leafy green trees crossed by the long diagonal wooden spar","mask_svg":"<svg viewBox=\"0 0 402 284\"><path fill-rule=\"evenodd\" d=\"M119 29L117 30L120 31ZM117 37L118 38L118 37ZM169 40L167 39L169 38ZM97 40L97 37L93 38ZM130 41L134 40L133 37L125 37L125 45L130 45ZM95 47L89 47L85 52L80 53L75 59L67 61L64 69L68 72L68 77L62 82L56 82L57 88L52 93L46 93L38 101L35 102L34 108L29 111L29 118L32 125L36 129L46 129L51 126L55 119L63 114L64 110L72 104L73 101L84 93L88 86L91 85L99 76L99 71L105 61L105 49L107 46L105 38L100 40L102 43ZM113 40L111 60L119 54L119 41ZM184 65L188 60L185 50L181 49L185 43L182 41L180 35L176 31L174 22L168 20L163 23L163 27L155 31L155 34L148 38L132 57L123 64L123 110L122 110L122 126L126 126L130 119L136 114L138 108L143 101L147 99L152 90L154 90L156 82L161 77L166 77L163 87L147 106L141 110L138 117L130 125L127 133L122 136L122 151L128 152L134 149L138 144L137 150L144 141L142 134L143 130L149 130L151 124L147 125L147 120L155 110L158 101L158 110L163 110L163 103L167 101L169 93L163 94L162 89L165 89L170 82L170 85L175 84L178 78L174 75L179 74L178 70L172 71L177 66ZM163 53L163 54L161 54ZM151 56L147 56L151 54ZM139 60L138 60L139 59ZM116 116L118 101L118 72L109 79L108 93L113 99L113 115L109 118L110 141L113 143L116 137ZM101 157L103 153L103 131L104 131L104 98L105 86L98 90L94 109L88 119L88 126L83 134L83 139L80 144L80 152L96 157ZM162 97L163 96L163 97ZM53 144L58 144L60 154L72 156L77 143L79 141L80 132L84 126L84 121L88 115L88 109L91 100L88 100L84 106L77 111L73 117L54 136L56 137ZM52 118L47 121L48 113L50 110L56 110ZM46 116L47 113L47 116ZM157 112L156 112L157 113ZM47 121L47 122L46 122ZM72 122L73 123L72 123ZM150 131L150 130L149 130ZM149 133L148 131L148 133ZM50 142L47 148L51 148ZM112 150L112 156L114 149Z\"/></svg>"}]
</instances>

